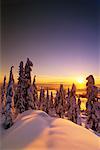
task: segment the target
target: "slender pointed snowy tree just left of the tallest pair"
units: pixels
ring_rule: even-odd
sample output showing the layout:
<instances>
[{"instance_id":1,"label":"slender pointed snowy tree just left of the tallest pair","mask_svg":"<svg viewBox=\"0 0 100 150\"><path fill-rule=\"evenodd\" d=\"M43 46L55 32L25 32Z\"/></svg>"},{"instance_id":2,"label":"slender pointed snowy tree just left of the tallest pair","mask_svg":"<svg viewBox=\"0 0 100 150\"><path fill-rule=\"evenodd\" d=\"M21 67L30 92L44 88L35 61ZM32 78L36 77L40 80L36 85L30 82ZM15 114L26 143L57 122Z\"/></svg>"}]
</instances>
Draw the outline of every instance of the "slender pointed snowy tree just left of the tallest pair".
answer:
<instances>
[{"instance_id":1,"label":"slender pointed snowy tree just left of the tallest pair","mask_svg":"<svg viewBox=\"0 0 100 150\"><path fill-rule=\"evenodd\" d=\"M7 87L7 94L6 94L6 113L5 113L5 121L4 121L4 128L7 129L12 126L13 124L13 113L14 113L14 106L13 106L13 96L14 96L14 78L12 73L13 66L10 70L9 76L9 83Z\"/></svg>"}]
</instances>

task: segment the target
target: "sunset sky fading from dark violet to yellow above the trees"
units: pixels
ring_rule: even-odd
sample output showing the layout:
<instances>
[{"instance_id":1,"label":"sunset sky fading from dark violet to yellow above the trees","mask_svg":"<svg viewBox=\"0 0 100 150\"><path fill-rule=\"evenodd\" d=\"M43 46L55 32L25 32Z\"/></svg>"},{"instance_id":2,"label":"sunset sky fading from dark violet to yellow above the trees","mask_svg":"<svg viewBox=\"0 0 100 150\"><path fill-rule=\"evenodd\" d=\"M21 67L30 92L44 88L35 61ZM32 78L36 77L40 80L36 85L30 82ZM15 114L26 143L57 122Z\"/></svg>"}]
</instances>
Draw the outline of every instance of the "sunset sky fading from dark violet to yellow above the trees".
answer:
<instances>
[{"instance_id":1,"label":"sunset sky fading from dark violet to yellow above the trees","mask_svg":"<svg viewBox=\"0 0 100 150\"><path fill-rule=\"evenodd\" d=\"M99 0L2 1L0 80L29 57L38 82L100 77Z\"/></svg>"}]
</instances>

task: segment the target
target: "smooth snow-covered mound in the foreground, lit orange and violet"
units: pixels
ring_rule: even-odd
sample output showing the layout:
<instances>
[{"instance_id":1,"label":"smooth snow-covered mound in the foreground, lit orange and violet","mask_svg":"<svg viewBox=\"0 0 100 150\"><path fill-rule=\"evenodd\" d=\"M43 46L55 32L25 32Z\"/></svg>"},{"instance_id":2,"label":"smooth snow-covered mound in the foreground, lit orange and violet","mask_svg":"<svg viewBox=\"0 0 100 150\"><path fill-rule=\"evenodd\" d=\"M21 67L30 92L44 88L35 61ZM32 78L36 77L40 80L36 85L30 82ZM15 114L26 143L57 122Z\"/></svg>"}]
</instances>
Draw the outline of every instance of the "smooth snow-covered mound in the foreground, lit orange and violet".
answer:
<instances>
[{"instance_id":1,"label":"smooth snow-covered mound in the foreground, lit orange and violet","mask_svg":"<svg viewBox=\"0 0 100 150\"><path fill-rule=\"evenodd\" d=\"M26 111L0 136L2 150L99 150L99 137L43 111Z\"/></svg>"}]
</instances>

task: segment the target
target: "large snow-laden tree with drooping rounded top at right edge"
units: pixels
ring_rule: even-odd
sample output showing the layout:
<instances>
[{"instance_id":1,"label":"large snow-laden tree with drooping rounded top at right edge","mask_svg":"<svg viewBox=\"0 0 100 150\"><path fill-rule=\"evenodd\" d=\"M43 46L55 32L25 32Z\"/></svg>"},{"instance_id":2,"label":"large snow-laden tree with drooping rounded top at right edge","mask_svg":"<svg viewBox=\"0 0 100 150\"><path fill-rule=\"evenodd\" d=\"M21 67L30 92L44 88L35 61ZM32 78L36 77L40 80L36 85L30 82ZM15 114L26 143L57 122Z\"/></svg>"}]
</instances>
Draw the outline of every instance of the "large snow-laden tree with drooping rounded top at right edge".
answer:
<instances>
[{"instance_id":1,"label":"large snow-laden tree with drooping rounded top at right edge","mask_svg":"<svg viewBox=\"0 0 100 150\"><path fill-rule=\"evenodd\" d=\"M87 111L87 121L86 121L86 128L91 128L94 131L98 132L100 129L100 114L97 111L97 108L100 108L100 102L97 101L97 94L98 90L95 86L95 80L92 75L86 78L87 83L87 103L86 103L86 111ZM99 130L100 131L100 130Z\"/></svg>"}]
</instances>

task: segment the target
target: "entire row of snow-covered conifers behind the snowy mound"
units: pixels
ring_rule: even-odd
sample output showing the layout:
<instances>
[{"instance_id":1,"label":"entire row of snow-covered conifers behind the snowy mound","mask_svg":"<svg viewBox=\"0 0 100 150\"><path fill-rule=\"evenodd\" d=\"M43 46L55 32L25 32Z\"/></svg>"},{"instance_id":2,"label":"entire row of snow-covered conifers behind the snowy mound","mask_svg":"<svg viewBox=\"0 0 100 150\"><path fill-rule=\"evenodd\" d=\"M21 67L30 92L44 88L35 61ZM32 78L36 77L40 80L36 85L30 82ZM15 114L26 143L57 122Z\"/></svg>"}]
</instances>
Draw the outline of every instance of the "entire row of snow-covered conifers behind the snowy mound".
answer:
<instances>
[{"instance_id":1,"label":"entire row of snow-covered conifers behind the snowy mound","mask_svg":"<svg viewBox=\"0 0 100 150\"><path fill-rule=\"evenodd\" d=\"M41 87L38 96L36 85L36 75L31 79L33 63L27 58L24 65L23 61L19 64L19 75L16 88L14 88L13 68L10 69L9 82L6 85L6 76L1 87L1 113L2 124L5 129L10 128L14 119L24 111L27 110L43 110L47 114L53 116L56 114L60 118L67 118L72 122L82 125L81 120L81 97L83 95L76 95L76 86L72 84L71 89L66 91L63 84L60 85L56 92L49 93L47 88L46 92ZM98 89L95 86L95 79L93 75L89 75L86 83L86 111L87 116L85 127L91 128L96 132L100 132L100 102L97 94Z\"/></svg>"}]
</instances>

